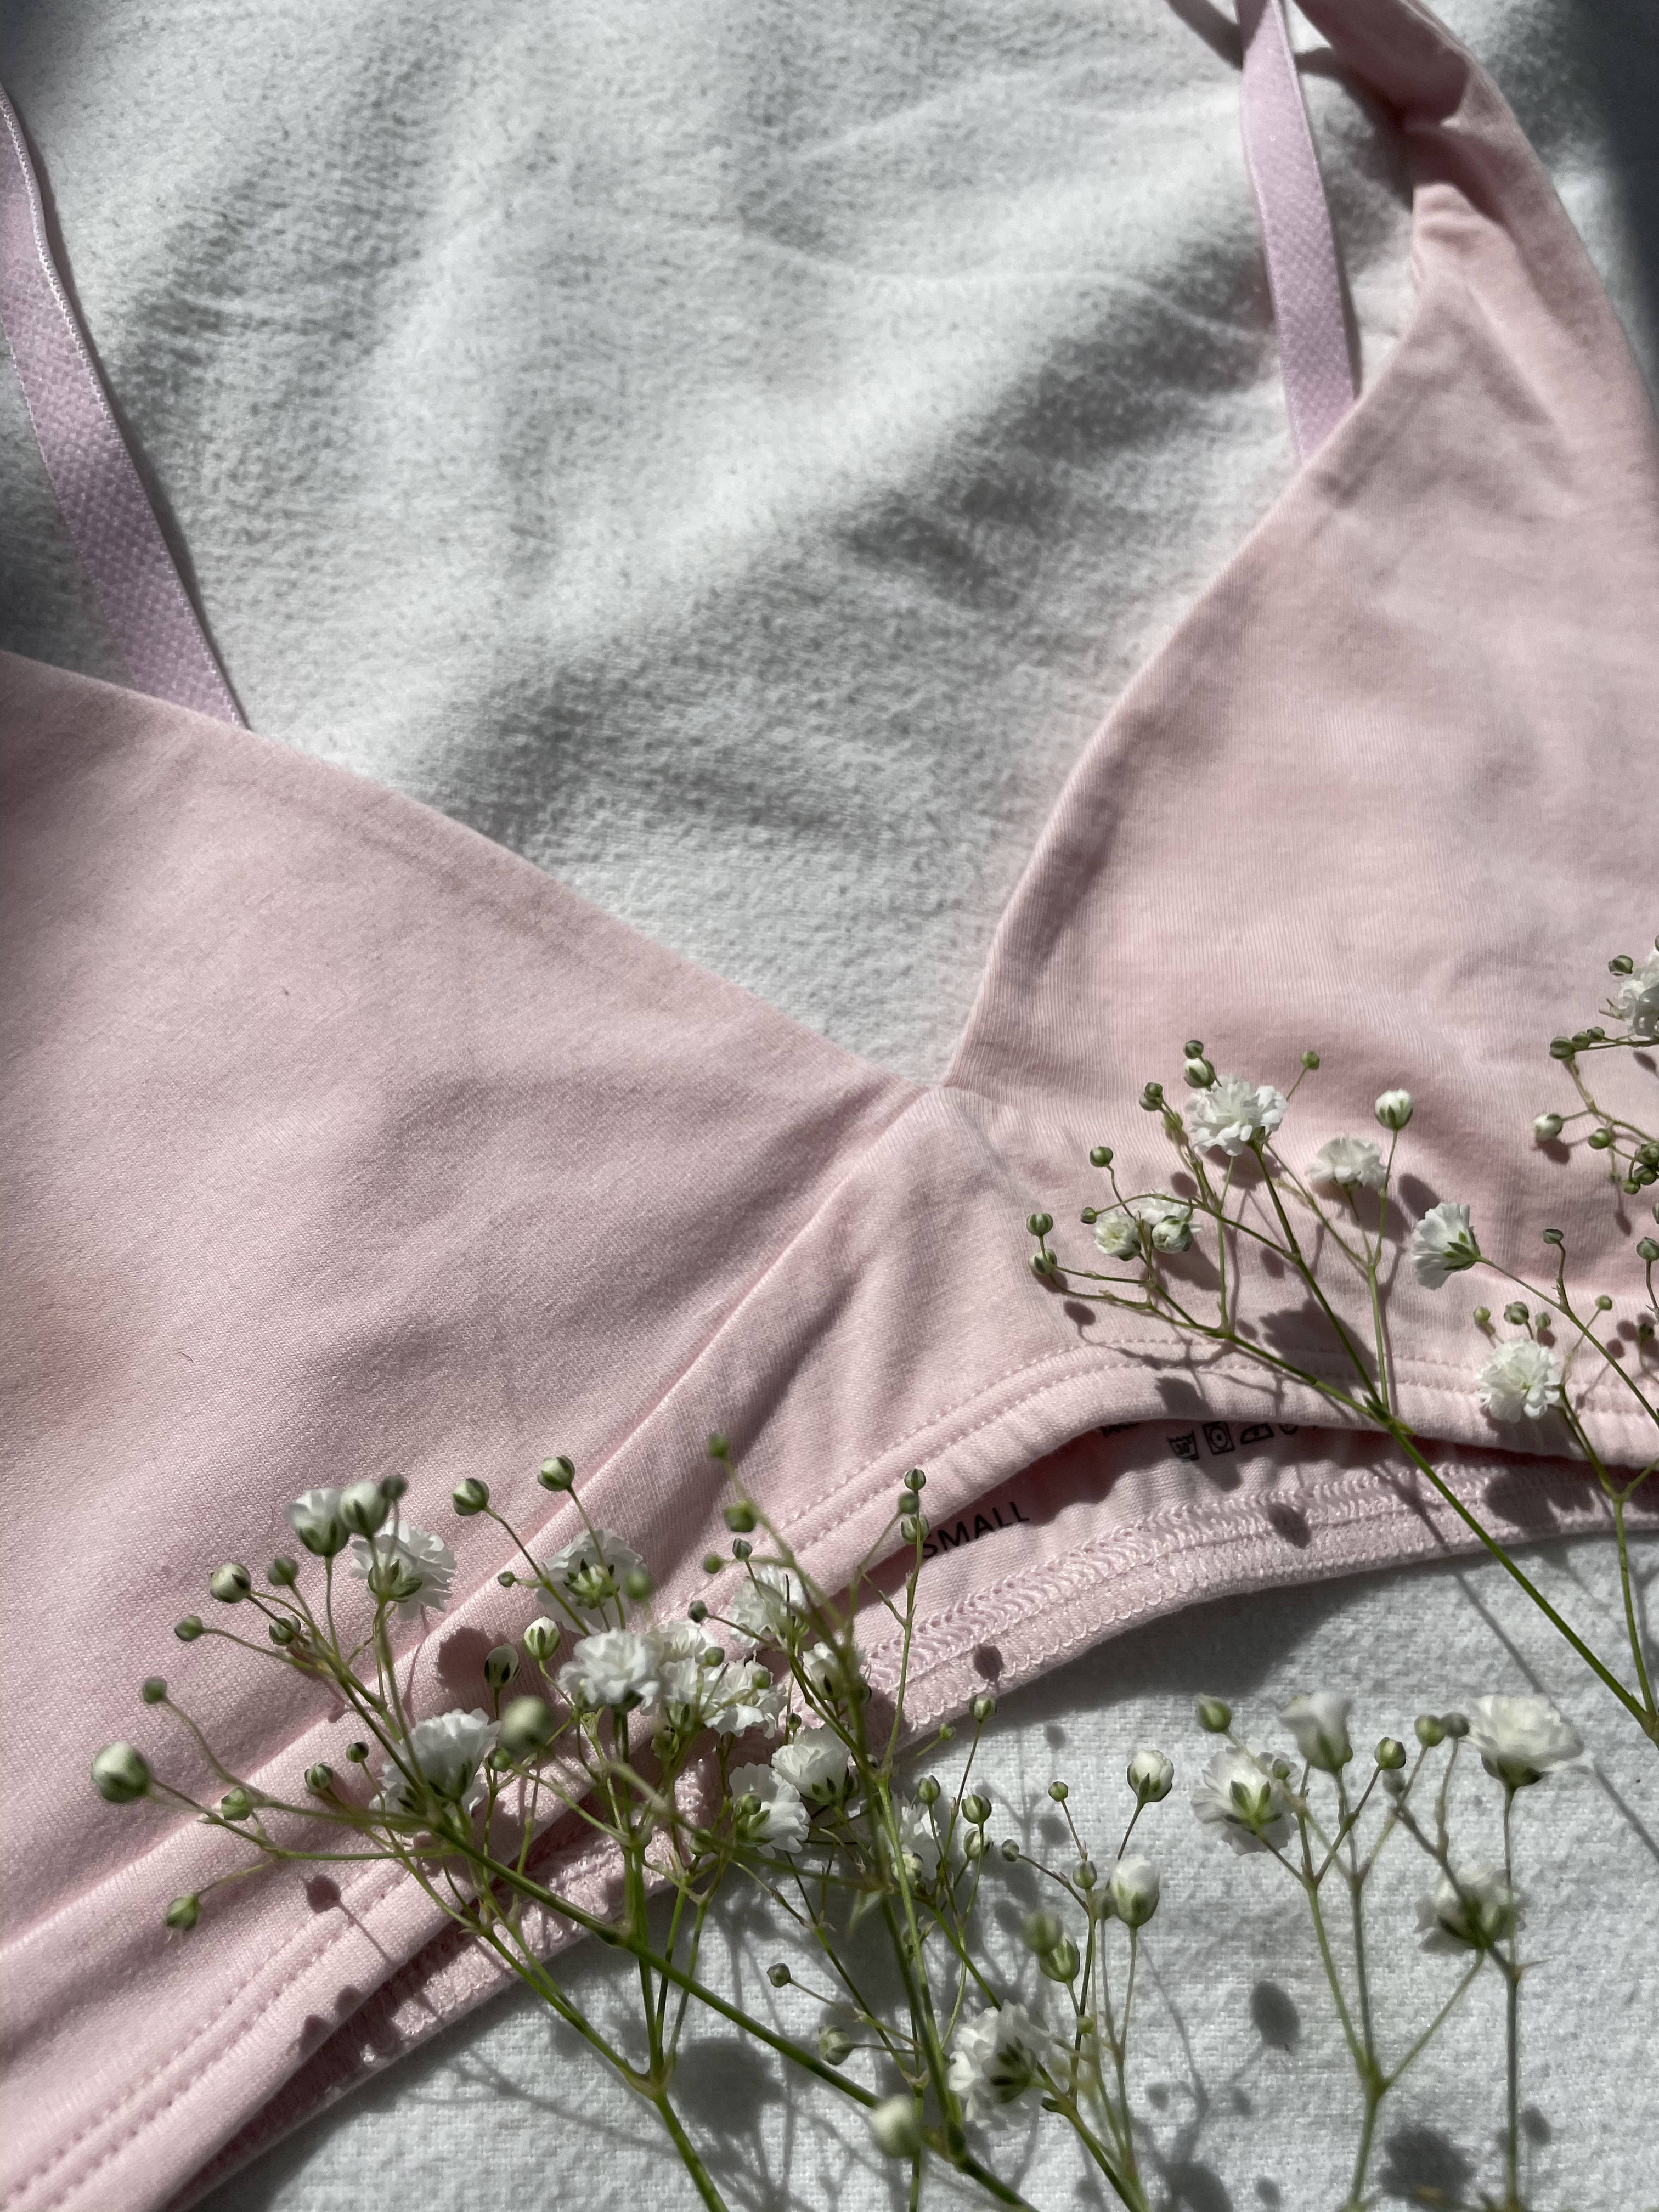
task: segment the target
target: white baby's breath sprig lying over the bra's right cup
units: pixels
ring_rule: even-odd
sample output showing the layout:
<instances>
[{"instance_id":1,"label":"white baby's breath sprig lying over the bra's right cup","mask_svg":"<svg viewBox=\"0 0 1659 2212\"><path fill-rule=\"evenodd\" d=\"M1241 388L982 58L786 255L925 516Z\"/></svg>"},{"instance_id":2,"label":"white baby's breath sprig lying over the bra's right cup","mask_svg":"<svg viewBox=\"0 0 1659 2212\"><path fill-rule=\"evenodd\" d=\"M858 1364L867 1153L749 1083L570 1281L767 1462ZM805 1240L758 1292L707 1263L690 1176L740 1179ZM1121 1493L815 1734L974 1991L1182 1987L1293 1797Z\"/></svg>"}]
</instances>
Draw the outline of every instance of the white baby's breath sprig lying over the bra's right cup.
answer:
<instances>
[{"instance_id":1,"label":"white baby's breath sprig lying over the bra's right cup","mask_svg":"<svg viewBox=\"0 0 1659 2212\"><path fill-rule=\"evenodd\" d=\"M1652 1040L1659 1022L1659 951L1637 973L1632 962L1615 962L1624 975L1619 1006L1628 1029L1617 1037L1597 1031L1586 1042L1566 1040L1564 1057L1577 1075L1579 1051L1630 1048ZM1557 1040L1562 1044L1562 1040ZM1555 1053L1557 1046L1551 1046ZM1287 1091L1248 1082L1239 1075L1217 1075L1203 1053L1203 1042L1190 1037L1183 1046L1186 1110L1177 1110L1159 1082L1141 1088L1139 1104L1157 1115L1175 1150L1170 1186L1135 1190L1119 1181L1113 1146L1095 1146L1091 1166L1110 1183L1110 1206L1086 1206L1082 1221L1095 1234L1097 1250L1110 1270L1075 1265L1051 1243L1053 1217L1035 1212L1026 1221L1037 1250L1031 1270L1048 1290L1110 1305L1148 1323L1175 1329L1192 1343L1234 1354L1265 1369L1274 1385L1294 1385L1325 1400L1345 1422L1360 1422L1389 1438L1396 1451L1438 1491L1444 1504L1498 1559L1504 1573L1526 1593L1531 1604L1571 1644L1601 1686L1637 1721L1650 1743L1659 1745L1659 1701L1639 1617L1628 1551L1628 1506L1637 1491L1659 1469L1659 1292L1655 1263L1659 1241L1641 1237L1635 1256L1641 1263L1641 1290L1619 1314L1608 1292L1584 1301L1568 1285L1566 1237L1544 1230L1544 1245L1555 1263L1553 1283L1531 1283L1491 1254L1475 1237L1469 1206L1442 1201L1429 1206L1413 1223L1396 1188L1396 1155L1402 1133L1411 1126L1416 1102L1409 1091L1385 1091L1374 1104L1374 1119L1385 1141L1376 1137L1332 1137L1298 1172L1285 1157L1281 1130L1298 1086L1321 1066L1316 1051L1305 1051L1301 1071ZM1588 1097L1588 1093L1586 1093ZM1593 1108L1599 1113L1599 1108ZM1555 1119L1555 1117L1551 1117ZM1606 1126L1613 1126L1604 1117ZM1542 1130L1542 1124L1540 1124ZM1621 1190L1646 1190L1659 1175L1659 1144L1617 1124L1617 1144L1626 1170ZM1559 1126L1553 1130L1559 1135ZM1597 1135L1586 1139L1593 1148ZM1648 1155L1652 1152L1652 1159ZM1652 1172L1650 1172L1652 1170ZM1172 1186L1183 1183L1181 1192ZM1655 1206L1659 1221L1659 1206ZM1214 1281L1206 1287L1181 1261L1194 1239L1208 1232L1206 1256ZM1298 1356L1270 1340L1243 1310L1248 1272L1243 1254L1265 1254L1287 1270L1307 1292L1323 1345L1312 1356ZM1394 1272L1409 1263L1427 1290L1442 1290L1453 1274L1486 1270L1522 1292L1502 1312L1502 1334L1489 1305L1473 1310L1475 1327L1486 1338L1486 1356L1473 1383L1480 1402L1504 1429L1555 1416L1566 1431L1566 1444L1595 1475L1608 1506L1619 1551L1624 1626L1632 1681L1590 1648L1571 1621L1544 1597L1537 1584L1515 1562L1498 1535L1431 1460L1431 1440L1420 1436L1400 1413L1394 1356L1387 1327L1387 1301ZM1343 1276L1358 1281L1365 1321L1352 1318ZM1652 1431L1657 1447L1639 1467L1615 1469L1597 1449L1588 1427L1588 1398L1613 1394Z\"/></svg>"}]
</instances>

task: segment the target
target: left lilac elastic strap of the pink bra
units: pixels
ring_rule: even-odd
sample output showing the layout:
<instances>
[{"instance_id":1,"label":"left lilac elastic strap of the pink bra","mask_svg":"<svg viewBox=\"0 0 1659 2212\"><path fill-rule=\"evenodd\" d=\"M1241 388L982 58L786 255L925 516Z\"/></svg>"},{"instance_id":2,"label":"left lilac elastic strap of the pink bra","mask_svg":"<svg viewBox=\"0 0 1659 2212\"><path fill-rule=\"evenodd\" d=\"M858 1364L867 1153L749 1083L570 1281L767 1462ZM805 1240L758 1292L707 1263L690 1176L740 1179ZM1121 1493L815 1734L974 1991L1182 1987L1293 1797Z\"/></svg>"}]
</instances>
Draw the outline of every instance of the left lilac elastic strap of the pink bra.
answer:
<instances>
[{"instance_id":1,"label":"left lilac elastic strap of the pink bra","mask_svg":"<svg viewBox=\"0 0 1659 2212\"><path fill-rule=\"evenodd\" d=\"M40 186L4 91L0 325L46 478L133 684L241 723L53 265Z\"/></svg>"}]
</instances>

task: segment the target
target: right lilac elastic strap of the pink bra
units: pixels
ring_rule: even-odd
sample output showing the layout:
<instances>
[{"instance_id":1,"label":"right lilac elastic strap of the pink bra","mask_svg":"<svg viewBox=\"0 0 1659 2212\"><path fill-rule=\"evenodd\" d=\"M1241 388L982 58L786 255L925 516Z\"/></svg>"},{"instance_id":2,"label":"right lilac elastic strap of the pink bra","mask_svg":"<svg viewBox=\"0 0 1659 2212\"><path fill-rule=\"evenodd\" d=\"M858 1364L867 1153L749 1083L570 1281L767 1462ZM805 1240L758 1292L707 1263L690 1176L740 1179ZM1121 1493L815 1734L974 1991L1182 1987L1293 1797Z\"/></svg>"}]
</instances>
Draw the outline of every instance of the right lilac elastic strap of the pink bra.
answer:
<instances>
[{"instance_id":1,"label":"right lilac elastic strap of the pink bra","mask_svg":"<svg viewBox=\"0 0 1659 2212\"><path fill-rule=\"evenodd\" d=\"M1343 281L1283 0L1239 0L1243 142L1279 323L1290 434L1305 460L1354 405Z\"/></svg>"}]
</instances>

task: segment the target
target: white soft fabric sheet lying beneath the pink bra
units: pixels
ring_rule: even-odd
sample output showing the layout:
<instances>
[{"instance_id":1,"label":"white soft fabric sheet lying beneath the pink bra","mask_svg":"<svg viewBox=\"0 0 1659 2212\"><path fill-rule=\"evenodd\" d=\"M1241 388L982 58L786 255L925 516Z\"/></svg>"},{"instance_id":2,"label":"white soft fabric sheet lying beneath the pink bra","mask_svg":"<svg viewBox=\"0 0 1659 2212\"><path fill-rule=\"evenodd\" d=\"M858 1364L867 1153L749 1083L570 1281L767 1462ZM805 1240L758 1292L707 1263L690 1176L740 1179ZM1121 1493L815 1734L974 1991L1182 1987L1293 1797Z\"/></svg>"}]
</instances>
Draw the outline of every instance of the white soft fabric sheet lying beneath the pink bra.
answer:
<instances>
[{"instance_id":1,"label":"white soft fabric sheet lying beneath the pink bra","mask_svg":"<svg viewBox=\"0 0 1659 2212\"><path fill-rule=\"evenodd\" d=\"M1517 104L1652 380L1652 11L1447 15ZM940 1073L1066 768L1292 467L1232 33L1208 0L7 0L0 75L254 728L458 814L852 1048ZM1374 374L1409 307L1398 159L1343 84L1314 71L1310 102ZM119 677L11 378L0 487L0 644ZM1555 1573L1606 1601L1604 1559ZM1141 1632L1018 1701L1000 1774L1064 1765L1113 1803L1135 1741L1190 1767L1201 1686L1265 1714L1347 1683L1369 1741L1513 1683L1504 1637L1628 1801L1584 1781L1526 1820L1535 1887L1566 1900L1540 1938L1562 1966L1528 1993L1540 2194L1626 2208L1655 2194L1659 2152L1652 1763L1498 1577ZM1214 2097L1172 2192L1199 2212L1332 2203L1347 2086L1305 1949L1281 1909L1263 1966L1259 1869L1166 1814L1161 1958ZM1294 2057L1252 2057L1261 1971L1301 2013ZM1241 2062L1252 2115L1225 2110ZM752 2201L887 2201L816 2106L785 2126L763 2090L728 2099L726 2066L703 2112L765 2146ZM1155 2066L1172 2079L1175 2053ZM1449 2057L1411 2097L1484 2157L1484 2073ZM215 2212L387 2185L440 2208L679 2201L641 2135L507 2000ZM1033 2192L1071 2201L1060 2170Z\"/></svg>"}]
</instances>

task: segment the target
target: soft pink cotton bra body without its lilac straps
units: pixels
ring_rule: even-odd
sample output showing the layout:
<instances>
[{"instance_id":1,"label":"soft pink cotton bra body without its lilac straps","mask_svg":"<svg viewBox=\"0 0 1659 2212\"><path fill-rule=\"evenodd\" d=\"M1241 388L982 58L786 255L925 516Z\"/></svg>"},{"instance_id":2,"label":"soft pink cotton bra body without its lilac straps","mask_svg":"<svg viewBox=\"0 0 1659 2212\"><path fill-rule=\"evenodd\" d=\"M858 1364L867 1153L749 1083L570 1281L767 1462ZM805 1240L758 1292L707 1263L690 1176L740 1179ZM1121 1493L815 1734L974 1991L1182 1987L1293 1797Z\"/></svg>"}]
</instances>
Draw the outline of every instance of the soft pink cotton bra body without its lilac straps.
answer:
<instances>
[{"instance_id":1,"label":"soft pink cotton bra body without its lilac straps","mask_svg":"<svg viewBox=\"0 0 1659 2212\"><path fill-rule=\"evenodd\" d=\"M166 1942L223 1851L86 1781L97 1743L161 1743L150 1668L254 1781L338 1756L276 1670L170 1637L310 1484L396 1469L451 1542L434 1705L471 1703L524 1617L498 1531L438 1502L482 1475L551 1548L553 1449L668 1610L719 1531L710 1429L827 1584L905 1467L936 1522L1022 1482L1024 1526L927 1571L918 1710L1203 1595L1462 1540L1369 1442L1285 1447L1316 1402L1033 1285L1022 1234L1099 1194L1102 1137L1164 1172L1133 1099L1199 1033L1259 1079L1321 1046L1307 1155L1407 1082L1418 1203L1469 1201L1531 1261L1542 1033L1652 902L1659 451L1624 338L1413 0L1307 13L1398 113L1416 321L1088 748L938 1088L438 814L0 659L4 2212L188 2194L489 1986L383 1869L310 1905L261 1878ZM1608 1192L1548 1188L1588 1279L1624 1252ZM1593 1524L1559 1460L1504 1455L1559 1436L1480 1411L1464 1303L1400 1287L1407 1411L1498 1526ZM1281 1440L1223 1489L1164 1442L1206 1420ZM1097 1433L1121 1422L1157 1427ZM1613 1407L1601 1440L1637 1451Z\"/></svg>"}]
</instances>

